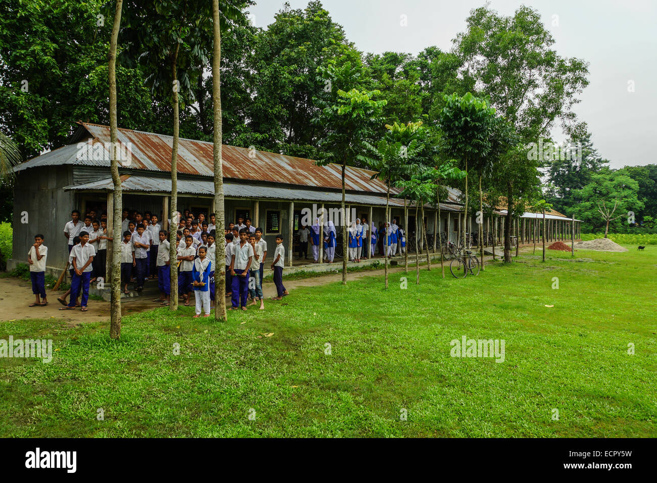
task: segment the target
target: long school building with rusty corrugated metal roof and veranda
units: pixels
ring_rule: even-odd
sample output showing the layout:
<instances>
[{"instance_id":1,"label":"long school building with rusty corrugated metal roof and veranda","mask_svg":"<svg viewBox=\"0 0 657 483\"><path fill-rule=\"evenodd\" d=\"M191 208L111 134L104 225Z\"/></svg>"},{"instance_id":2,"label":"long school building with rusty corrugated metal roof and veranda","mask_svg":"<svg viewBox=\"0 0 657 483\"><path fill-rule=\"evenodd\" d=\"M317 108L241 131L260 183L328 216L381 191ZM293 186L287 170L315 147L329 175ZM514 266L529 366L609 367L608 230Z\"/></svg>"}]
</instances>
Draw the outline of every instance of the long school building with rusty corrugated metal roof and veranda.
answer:
<instances>
[{"instance_id":1,"label":"long school building with rusty corrugated metal roof and veranda","mask_svg":"<svg viewBox=\"0 0 657 483\"><path fill-rule=\"evenodd\" d=\"M26 263L27 252L36 233L45 235L48 246L47 271L58 276L68 261L68 241L64 225L70 221L71 210L77 209L82 217L94 209L100 215L108 214L108 230L112 229L113 200L110 174L110 128L99 124L78 122L68 145L41 154L14 168L14 231L12 258L7 268ZM171 195L171 146L168 135L119 129L118 141L123 147L120 157L123 207L141 213L150 211L160 216L160 223L168 229ZM275 235L281 233L286 248L286 265L292 263L290 251L296 252L300 224L307 217L309 225L316 213L325 210L336 225L338 234L342 224L339 216L342 199L341 166L318 166L315 161L275 152L250 150L223 145L223 193L225 196L225 223L237 218L252 218L252 224L262 227L269 246L275 246ZM189 208L194 214L215 212L213 145L210 142L179 139L177 160L177 210ZM347 217L367 218L369 225L378 227L385 220L386 185L374 177L375 172L361 168L346 168ZM398 193L392 190L392 195ZM461 231L463 204L459 191L449 189L449 196L441 203L442 219L438 210L425 206L424 221L430 248L432 236L445 233L456 241ZM391 215L404 226L404 200L390 197ZM409 206L407 237L415 237L415 206ZM497 227L497 239L503 234L505 212L484 221L484 229ZM532 237L532 221L540 214L524 214L522 221L514 223L514 233L523 241ZM472 217L468 227L475 227ZM571 219L551 212L549 239L568 239ZM25 221L22 223L22 221ZM418 232L421 233L419 227ZM468 230L470 231L470 230ZM535 231L535 230L534 230ZM579 223L576 220L579 234ZM445 235L443 235L445 237ZM576 235L576 239L578 235ZM221 239L221 235L217 236ZM497 242L499 244L499 241ZM110 245L108 245L110 250ZM438 247L440 250L440 245ZM296 265L296 262L295 262Z\"/></svg>"}]
</instances>

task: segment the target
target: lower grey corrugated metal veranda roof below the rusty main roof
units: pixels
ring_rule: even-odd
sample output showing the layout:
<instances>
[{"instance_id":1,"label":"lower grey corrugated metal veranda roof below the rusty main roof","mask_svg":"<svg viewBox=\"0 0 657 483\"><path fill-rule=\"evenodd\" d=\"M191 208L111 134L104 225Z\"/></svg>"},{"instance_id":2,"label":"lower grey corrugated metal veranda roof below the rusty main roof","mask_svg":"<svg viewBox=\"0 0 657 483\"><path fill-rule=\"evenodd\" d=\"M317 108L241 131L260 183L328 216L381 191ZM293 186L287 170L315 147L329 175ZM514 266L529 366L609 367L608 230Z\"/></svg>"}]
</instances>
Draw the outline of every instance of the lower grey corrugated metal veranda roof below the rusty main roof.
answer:
<instances>
[{"instance_id":1,"label":"lower grey corrugated metal veranda roof below the rusty main roof","mask_svg":"<svg viewBox=\"0 0 657 483\"><path fill-rule=\"evenodd\" d=\"M145 193L171 193L171 179L148 176L148 175L122 175L122 188L124 191L143 191ZM191 195L208 195L214 196L214 182L196 179L178 179L178 193ZM112 178L92 181L83 185L70 185L65 190L87 191L101 190L114 191ZM281 188L274 186L261 185L242 185L237 183L223 183L223 195L236 198L263 198L263 199L281 199L281 200L299 200L313 202L327 202L339 204L342 200L342 193L333 191L314 191L309 189ZM347 204L377 205L386 204L385 196L375 195L353 195L346 194ZM399 198L390 198L391 206L403 206L403 200ZM458 211L458 207L441 204L441 209L446 211ZM427 208L431 208L426 205Z\"/></svg>"}]
</instances>

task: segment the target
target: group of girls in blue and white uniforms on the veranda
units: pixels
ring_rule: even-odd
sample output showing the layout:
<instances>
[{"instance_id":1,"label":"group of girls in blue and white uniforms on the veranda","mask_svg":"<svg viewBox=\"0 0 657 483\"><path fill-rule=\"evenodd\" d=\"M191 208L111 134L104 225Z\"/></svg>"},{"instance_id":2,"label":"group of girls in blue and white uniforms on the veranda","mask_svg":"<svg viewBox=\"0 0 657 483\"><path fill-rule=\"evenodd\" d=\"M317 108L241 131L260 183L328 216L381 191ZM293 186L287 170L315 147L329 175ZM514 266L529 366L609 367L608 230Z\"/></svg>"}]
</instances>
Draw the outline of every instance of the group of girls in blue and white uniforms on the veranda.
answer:
<instances>
[{"instance_id":1,"label":"group of girls in blue and white uniforms on the veranda","mask_svg":"<svg viewBox=\"0 0 657 483\"><path fill-rule=\"evenodd\" d=\"M351 223L348 229L348 255L350 262L360 262L361 259L367 260L367 233L369 232L369 225L367 218L363 216L363 220L357 218ZM302 225L299 229L299 259L308 260L308 242L311 244L311 253L313 256L313 263L319 263L319 238L321 237L321 226L319 218L315 218L315 223L311 225L310 229L306 225ZM323 227L323 249L324 257L327 263L332 264L335 257L336 247L336 229L333 221L327 221ZM370 256L378 252L379 256L392 258L397 253L403 255L406 250L406 235L403 229L397 225L397 220L393 219L392 223L379 223L378 228L372 225L372 230L369 235L370 238ZM363 251L363 247L366 248Z\"/></svg>"}]
</instances>

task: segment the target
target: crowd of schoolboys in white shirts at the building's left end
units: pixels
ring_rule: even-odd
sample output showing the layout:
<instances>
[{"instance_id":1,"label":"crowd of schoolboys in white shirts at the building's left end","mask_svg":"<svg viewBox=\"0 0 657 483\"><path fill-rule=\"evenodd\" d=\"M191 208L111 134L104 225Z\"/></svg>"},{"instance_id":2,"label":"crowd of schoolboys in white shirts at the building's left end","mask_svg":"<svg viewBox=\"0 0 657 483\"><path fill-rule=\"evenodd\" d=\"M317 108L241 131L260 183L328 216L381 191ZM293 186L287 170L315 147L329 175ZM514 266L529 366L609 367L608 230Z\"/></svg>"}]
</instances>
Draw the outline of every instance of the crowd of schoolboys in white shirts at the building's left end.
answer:
<instances>
[{"instance_id":1,"label":"crowd of schoolboys in white shirts at the building's left end","mask_svg":"<svg viewBox=\"0 0 657 483\"><path fill-rule=\"evenodd\" d=\"M248 299L255 305L260 302L264 309L262 293L263 267L267 257L267 242L262 238L261 228L252 226L251 219L238 218L238 223L229 223L224 229L226 296L231 297L231 309L246 310ZM121 240L121 282L125 294L128 285L134 283L138 292L143 290L145 281L157 279L160 298L155 301L162 305L170 303L170 242L169 232L161 229L158 216L150 212L141 214L136 210L124 210ZM107 218L103 214L96 218L95 210L85 214L80 221L80 212L71 212L71 221L64 226L64 237L68 241L68 265L72 279L70 289L57 298L64 307L60 310L74 310L80 307L87 311L89 286L94 281L103 282L106 270ZM178 273L178 296L190 305L194 293L196 315L210 315L215 298L214 273L216 250L215 214L206 221L204 214L198 219L189 210L179 216L176 232L176 260ZM47 246L41 234L34 237L34 245L28 252L30 278L35 302L30 306L46 306L45 267ZM288 295L283 286L284 247L283 236L277 235L271 269L277 296L281 300ZM66 297L70 296L69 302ZM79 300L81 297L81 300Z\"/></svg>"}]
</instances>

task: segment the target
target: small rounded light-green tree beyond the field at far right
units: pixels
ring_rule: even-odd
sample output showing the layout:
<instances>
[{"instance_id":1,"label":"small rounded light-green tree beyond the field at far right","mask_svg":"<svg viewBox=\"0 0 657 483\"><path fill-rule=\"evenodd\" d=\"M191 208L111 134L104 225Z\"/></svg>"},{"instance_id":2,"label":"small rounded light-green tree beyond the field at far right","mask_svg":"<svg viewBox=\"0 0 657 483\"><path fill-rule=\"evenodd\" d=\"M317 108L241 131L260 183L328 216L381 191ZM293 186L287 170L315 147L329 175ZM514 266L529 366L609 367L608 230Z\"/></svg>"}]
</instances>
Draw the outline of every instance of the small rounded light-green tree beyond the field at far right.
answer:
<instances>
[{"instance_id":1,"label":"small rounded light-green tree beyond the field at far right","mask_svg":"<svg viewBox=\"0 0 657 483\"><path fill-rule=\"evenodd\" d=\"M606 238L612 221L643 209L638 193L639 183L622 170L602 170L591 175L591 182L576 191L579 204L574 208L575 214L593 229L604 225Z\"/></svg>"}]
</instances>

